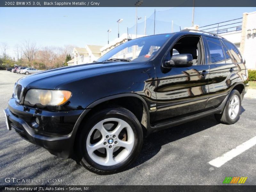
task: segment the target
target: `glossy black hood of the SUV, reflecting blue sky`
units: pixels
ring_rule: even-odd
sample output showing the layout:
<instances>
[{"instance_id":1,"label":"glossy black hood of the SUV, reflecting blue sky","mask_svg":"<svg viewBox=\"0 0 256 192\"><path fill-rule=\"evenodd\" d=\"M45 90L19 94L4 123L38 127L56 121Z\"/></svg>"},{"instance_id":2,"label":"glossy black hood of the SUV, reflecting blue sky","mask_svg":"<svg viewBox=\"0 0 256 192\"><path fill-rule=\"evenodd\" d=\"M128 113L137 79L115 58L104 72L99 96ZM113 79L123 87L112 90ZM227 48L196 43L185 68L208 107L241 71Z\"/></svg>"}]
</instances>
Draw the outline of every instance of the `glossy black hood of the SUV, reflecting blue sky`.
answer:
<instances>
[{"instance_id":1,"label":"glossy black hood of the SUV, reflecting blue sky","mask_svg":"<svg viewBox=\"0 0 256 192\"><path fill-rule=\"evenodd\" d=\"M39 89L55 89L60 84L76 81L81 78L111 73L113 71L138 67L145 63L137 62L96 62L83 65L56 68L42 71L34 75L22 77L18 84L23 87Z\"/></svg>"}]
</instances>

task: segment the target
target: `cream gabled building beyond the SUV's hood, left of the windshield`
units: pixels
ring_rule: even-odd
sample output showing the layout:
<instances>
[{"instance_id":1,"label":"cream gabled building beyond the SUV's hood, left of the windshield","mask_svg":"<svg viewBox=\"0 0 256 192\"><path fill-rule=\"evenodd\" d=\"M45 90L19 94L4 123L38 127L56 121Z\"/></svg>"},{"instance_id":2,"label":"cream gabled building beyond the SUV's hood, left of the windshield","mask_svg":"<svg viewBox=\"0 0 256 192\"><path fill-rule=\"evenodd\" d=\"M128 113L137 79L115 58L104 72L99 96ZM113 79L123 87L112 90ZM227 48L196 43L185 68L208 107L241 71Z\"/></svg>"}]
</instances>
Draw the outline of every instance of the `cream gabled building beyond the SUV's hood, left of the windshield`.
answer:
<instances>
[{"instance_id":1,"label":"cream gabled building beyond the SUV's hood, left of the windshield","mask_svg":"<svg viewBox=\"0 0 256 192\"><path fill-rule=\"evenodd\" d=\"M75 47L72 52L73 59L68 61L68 66L81 65L98 60L101 56L101 47L98 45L86 45L85 48Z\"/></svg>"}]
</instances>

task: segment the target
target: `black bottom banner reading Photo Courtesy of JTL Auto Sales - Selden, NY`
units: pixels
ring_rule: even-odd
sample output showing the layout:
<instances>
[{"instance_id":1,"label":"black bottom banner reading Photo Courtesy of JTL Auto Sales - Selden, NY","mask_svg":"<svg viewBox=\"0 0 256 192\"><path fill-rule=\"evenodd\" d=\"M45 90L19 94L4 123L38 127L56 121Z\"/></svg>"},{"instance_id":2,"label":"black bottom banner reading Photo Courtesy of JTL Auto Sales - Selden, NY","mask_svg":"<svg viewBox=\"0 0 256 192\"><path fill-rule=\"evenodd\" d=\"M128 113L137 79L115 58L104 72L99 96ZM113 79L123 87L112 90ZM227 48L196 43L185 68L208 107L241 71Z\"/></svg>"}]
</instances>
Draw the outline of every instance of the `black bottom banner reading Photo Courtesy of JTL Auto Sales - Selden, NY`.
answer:
<instances>
[{"instance_id":1,"label":"black bottom banner reading Photo Courtesy of JTL Auto Sales - Selden, NY","mask_svg":"<svg viewBox=\"0 0 256 192\"><path fill-rule=\"evenodd\" d=\"M108 191L116 191L116 192L155 192L155 191L161 191L161 192L170 192L170 191L189 191L189 192L200 192L200 191L255 191L255 186L250 185L221 185L221 186L196 186L196 185L186 185L186 186L174 186L174 185L153 185L153 186L142 186L142 185L123 185L123 186L91 186L91 185L77 185L77 186L71 186L71 185L59 185L59 186L38 186L38 185L20 185L20 186L0 186L1 192L31 192L31 191L39 191L39 192L50 192L50 191L61 191L61 192L87 192L87 191L93 191L93 192L108 192Z\"/></svg>"}]
</instances>

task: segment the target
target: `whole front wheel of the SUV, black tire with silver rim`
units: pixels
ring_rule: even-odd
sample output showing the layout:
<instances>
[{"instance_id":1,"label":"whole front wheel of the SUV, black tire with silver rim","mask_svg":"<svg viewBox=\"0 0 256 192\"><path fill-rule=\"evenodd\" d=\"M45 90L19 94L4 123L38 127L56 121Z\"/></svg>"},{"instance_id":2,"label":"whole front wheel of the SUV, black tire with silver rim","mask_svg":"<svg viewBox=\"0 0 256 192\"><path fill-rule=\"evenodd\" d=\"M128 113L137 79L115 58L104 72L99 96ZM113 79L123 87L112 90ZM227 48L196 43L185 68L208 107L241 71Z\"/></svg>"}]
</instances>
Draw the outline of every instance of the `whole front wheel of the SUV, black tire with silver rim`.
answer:
<instances>
[{"instance_id":1,"label":"whole front wheel of the SUV, black tire with silver rim","mask_svg":"<svg viewBox=\"0 0 256 192\"><path fill-rule=\"evenodd\" d=\"M142 148L141 124L131 111L122 107L97 112L82 124L77 134L78 162L100 175L124 170Z\"/></svg>"}]
</instances>

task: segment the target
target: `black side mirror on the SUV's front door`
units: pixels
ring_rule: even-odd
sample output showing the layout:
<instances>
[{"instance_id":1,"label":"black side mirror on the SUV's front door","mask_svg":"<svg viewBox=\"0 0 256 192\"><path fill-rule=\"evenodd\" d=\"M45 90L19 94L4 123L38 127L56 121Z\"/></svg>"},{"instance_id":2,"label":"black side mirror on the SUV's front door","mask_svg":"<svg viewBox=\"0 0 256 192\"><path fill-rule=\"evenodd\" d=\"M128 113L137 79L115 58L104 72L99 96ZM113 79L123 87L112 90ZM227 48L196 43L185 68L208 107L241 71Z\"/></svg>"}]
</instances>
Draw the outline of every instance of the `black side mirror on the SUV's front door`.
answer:
<instances>
[{"instance_id":1,"label":"black side mirror on the SUV's front door","mask_svg":"<svg viewBox=\"0 0 256 192\"><path fill-rule=\"evenodd\" d=\"M191 54L172 55L171 60L164 61L165 68L171 67L190 67L193 64L193 56Z\"/></svg>"}]
</instances>

